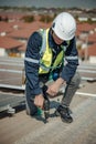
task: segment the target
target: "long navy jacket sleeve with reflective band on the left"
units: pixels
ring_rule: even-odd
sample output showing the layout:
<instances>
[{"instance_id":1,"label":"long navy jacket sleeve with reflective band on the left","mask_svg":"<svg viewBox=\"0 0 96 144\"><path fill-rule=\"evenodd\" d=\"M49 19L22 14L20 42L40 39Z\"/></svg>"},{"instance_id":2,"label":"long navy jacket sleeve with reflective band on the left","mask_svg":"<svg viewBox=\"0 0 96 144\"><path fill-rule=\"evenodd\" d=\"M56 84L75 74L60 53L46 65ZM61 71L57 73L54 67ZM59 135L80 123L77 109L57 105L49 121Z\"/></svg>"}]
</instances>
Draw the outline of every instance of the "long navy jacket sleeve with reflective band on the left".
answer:
<instances>
[{"instance_id":1,"label":"long navy jacket sleeve with reflective band on the left","mask_svg":"<svg viewBox=\"0 0 96 144\"><path fill-rule=\"evenodd\" d=\"M28 41L24 66L25 76L31 88L33 95L42 93L39 85L39 68L40 68L40 47L42 44L42 38L38 32L34 32Z\"/></svg>"}]
</instances>

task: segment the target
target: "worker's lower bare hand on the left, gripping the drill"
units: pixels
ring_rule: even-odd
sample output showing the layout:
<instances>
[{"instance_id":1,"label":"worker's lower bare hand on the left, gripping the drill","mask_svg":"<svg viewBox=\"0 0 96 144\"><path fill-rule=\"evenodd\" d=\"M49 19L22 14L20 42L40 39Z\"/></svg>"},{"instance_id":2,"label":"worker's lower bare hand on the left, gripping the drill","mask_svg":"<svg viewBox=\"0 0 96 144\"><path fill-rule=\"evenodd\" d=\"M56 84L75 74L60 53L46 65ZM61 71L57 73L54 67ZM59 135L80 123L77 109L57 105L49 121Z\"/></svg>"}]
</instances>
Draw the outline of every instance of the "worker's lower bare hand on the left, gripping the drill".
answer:
<instances>
[{"instance_id":1,"label":"worker's lower bare hand on the left, gripping the drill","mask_svg":"<svg viewBox=\"0 0 96 144\"><path fill-rule=\"evenodd\" d=\"M44 97L43 97L42 94L35 95L34 104L35 104L36 106L43 109Z\"/></svg>"}]
</instances>

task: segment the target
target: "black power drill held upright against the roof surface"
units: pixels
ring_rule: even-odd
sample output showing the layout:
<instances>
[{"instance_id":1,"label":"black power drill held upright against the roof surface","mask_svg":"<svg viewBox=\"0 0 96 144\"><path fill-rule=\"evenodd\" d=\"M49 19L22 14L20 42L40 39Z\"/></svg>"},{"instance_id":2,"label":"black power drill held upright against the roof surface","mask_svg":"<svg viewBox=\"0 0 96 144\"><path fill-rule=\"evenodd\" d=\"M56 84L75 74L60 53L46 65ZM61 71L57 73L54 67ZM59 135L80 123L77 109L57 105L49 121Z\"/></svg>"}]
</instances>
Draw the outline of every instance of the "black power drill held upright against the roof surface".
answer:
<instances>
[{"instance_id":1,"label":"black power drill held upright against the roof surface","mask_svg":"<svg viewBox=\"0 0 96 144\"><path fill-rule=\"evenodd\" d=\"M47 86L44 85L42 88L42 90L43 90L43 96L44 96L44 105L43 105L43 107L44 107L44 117L45 117L45 121L47 122L47 119L50 116L50 100L49 100L49 96L47 96L47 93L46 93Z\"/></svg>"}]
</instances>

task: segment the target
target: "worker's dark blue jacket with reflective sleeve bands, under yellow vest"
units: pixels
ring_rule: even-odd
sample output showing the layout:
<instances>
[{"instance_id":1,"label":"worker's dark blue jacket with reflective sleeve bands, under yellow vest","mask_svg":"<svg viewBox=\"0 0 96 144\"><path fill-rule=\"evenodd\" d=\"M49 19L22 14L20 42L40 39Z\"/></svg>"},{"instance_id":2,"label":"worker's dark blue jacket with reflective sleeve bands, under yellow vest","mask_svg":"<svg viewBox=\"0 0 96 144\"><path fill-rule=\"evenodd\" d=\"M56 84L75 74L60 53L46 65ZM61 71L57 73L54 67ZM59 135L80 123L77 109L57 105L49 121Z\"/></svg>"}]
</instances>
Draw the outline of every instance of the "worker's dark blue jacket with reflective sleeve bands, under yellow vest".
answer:
<instances>
[{"instance_id":1,"label":"worker's dark blue jacket with reflective sleeve bands, under yellow vest","mask_svg":"<svg viewBox=\"0 0 96 144\"><path fill-rule=\"evenodd\" d=\"M66 44L67 43L65 41L62 43L62 45L66 45ZM49 32L49 45L50 48L52 48L53 55L54 55L53 59L55 59L56 54L58 54L61 49L60 45L57 45L54 42L51 31ZM40 80L39 80L40 63L33 62L31 60L40 61L41 47L42 47L42 37L40 35L39 32L34 32L29 38L26 51L25 51L25 60L24 60L26 82L32 91L31 93L34 95L42 93L42 90L40 88ZM65 50L64 59L65 59L65 64L62 69L60 76L68 83L70 80L74 76L78 65L78 53L76 49L75 37L70 41L70 44Z\"/></svg>"}]
</instances>

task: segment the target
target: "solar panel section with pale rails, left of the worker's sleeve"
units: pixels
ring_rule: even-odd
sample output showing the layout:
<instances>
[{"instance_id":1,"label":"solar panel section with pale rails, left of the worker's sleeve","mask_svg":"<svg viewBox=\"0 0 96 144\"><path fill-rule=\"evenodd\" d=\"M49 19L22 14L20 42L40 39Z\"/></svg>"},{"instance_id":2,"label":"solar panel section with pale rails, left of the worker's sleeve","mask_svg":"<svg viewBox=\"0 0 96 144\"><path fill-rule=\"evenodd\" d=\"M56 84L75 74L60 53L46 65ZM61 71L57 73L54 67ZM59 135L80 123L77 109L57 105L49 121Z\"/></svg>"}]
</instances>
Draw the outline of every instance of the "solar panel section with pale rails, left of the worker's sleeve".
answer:
<instances>
[{"instance_id":1,"label":"solar panel section with pale rails, left of the worker's sleeve","mask_svg":"<svg viewBox=\"0 0 96 144\"><path fill-rule=\"evenodd\" d=\"M24 89L23 59L0 58L0 88Z\"/></svg>"}]
</instances>

